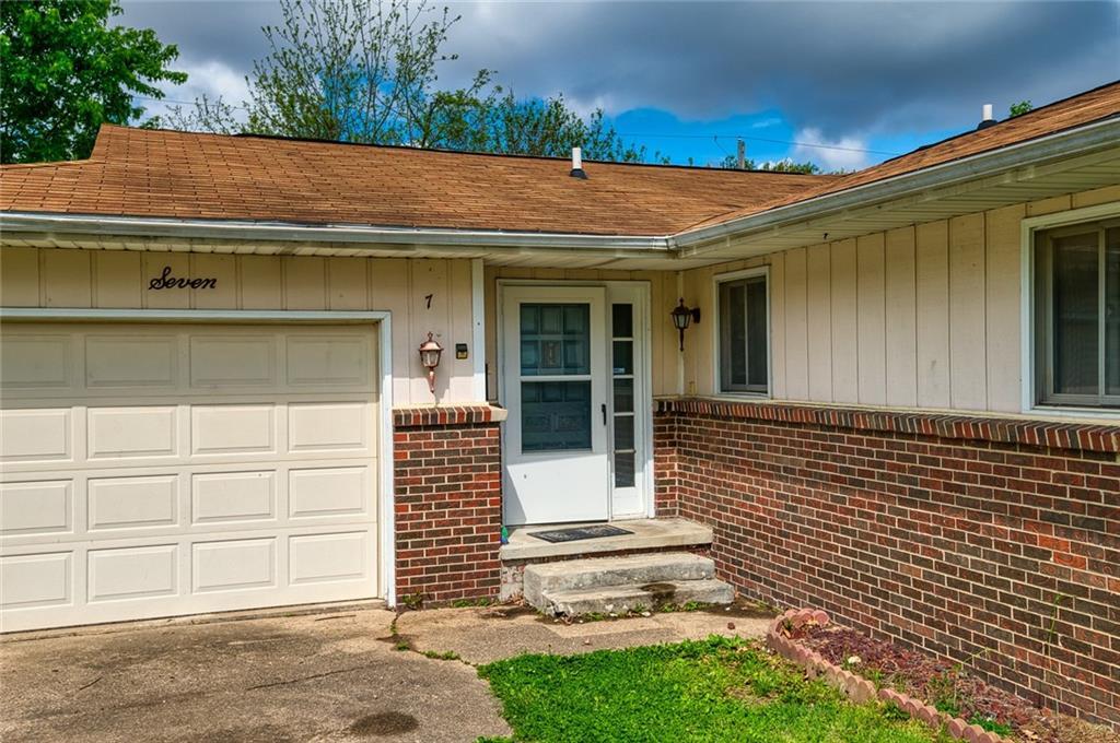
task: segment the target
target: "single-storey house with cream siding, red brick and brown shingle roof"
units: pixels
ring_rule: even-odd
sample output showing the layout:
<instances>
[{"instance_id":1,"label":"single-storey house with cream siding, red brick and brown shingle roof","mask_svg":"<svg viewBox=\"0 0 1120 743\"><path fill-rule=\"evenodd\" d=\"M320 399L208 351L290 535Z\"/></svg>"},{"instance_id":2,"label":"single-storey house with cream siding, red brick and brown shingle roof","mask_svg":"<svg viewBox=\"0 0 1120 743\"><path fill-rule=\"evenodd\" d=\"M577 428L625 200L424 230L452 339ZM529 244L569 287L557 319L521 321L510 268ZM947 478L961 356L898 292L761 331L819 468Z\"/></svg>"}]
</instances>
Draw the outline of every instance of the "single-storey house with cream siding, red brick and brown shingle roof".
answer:
<instances>
[{"instance_id":1,"label":"single-storey house with cream siding, red brick and brown shingle roof","mask_svg":"<svg viewBox=\"0 0 1120 743\"><path fill-rule=\"evenodd\" d=\"M841 177L105 125L0 206L3 630L640 519L1120 722L1120 83Z\"/></svg>"}]
</instances>

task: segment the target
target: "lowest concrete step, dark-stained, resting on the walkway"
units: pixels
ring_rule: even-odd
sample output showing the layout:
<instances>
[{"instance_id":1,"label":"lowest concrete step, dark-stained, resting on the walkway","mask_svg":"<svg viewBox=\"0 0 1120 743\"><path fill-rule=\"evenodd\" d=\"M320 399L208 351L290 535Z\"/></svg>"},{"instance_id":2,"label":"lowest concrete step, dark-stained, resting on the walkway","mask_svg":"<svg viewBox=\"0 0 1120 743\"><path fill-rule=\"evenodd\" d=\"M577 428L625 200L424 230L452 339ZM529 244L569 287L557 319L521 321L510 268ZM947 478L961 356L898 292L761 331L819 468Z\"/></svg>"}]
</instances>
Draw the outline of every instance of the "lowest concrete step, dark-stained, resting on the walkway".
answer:
<instances>
[{"instance_id":1,"label":"lowest concrete step, dark-stained, resting on the walkway","mask_svg":"<svg viewBox=\"0 0 1120 743\"><path fill-rule=\"evenodd\" d=\"M640 585L548 591L544 593L543 610L551 617L623 614L628 611L656 611L666 604L729 604L734 600L735 590L722 581L662 581Z\"/></svg>"}]
</instances>

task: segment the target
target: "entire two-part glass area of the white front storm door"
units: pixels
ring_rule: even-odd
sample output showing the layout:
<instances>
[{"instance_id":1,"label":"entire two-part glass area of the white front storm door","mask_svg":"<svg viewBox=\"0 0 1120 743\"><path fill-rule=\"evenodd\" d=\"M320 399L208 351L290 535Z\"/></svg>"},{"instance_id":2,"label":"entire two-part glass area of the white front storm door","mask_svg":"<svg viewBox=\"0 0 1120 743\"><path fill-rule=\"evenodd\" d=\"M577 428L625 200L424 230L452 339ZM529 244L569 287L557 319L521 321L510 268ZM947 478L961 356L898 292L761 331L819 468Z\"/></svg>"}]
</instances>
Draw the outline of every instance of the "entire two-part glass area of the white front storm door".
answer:
<instances>
[{"instance_id":1,"label":"entire two-part glass area of the white front storm door","mask_svg":"<svg viewBox=\"0 0 1120 743\"><path fill-rule=\"evenodd\" d=\"M591 449L588 304L521 305L521 448Z\"/></svg>"}]
</instances>

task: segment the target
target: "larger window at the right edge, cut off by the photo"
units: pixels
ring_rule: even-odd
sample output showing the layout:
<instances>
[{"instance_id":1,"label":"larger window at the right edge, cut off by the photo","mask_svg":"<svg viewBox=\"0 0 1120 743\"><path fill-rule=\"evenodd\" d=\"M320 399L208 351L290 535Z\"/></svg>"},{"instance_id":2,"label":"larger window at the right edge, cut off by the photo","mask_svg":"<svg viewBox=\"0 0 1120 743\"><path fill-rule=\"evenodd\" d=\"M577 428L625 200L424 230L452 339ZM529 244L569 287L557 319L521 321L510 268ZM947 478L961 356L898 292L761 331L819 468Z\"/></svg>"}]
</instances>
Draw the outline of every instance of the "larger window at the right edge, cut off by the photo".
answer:
<instances>
[{"instance_id":1,"label":"larger window at the right edge, cut off by the photo","mask_svg":"<svg viewBox=\"0 0 1120 743\"><path fill-rule=\"evenodd\" d=\"M1035 233L1037 399L1120 407L1120 219Z\"/></svg>"}]
</instances>

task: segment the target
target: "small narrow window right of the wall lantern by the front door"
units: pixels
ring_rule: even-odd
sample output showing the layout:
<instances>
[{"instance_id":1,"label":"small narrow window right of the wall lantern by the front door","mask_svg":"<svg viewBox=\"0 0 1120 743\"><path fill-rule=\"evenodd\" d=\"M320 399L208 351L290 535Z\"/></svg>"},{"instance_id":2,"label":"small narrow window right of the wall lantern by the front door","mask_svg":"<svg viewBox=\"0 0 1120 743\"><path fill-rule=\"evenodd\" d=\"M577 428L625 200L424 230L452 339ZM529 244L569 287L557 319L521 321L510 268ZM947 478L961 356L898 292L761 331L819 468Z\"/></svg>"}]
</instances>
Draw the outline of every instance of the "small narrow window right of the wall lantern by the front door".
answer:
<instances>
[{"instance_id":1,"label":"small narrow window right of the wall lantern by the front door","mask_svg":"<svg viewBox=\"0 0 1120 743\"><path fill-rule=\"evenodd\" d=\"M769 301L765 273L720 281L719 389L769 391Z\"/></svg>"}]
</instances>

